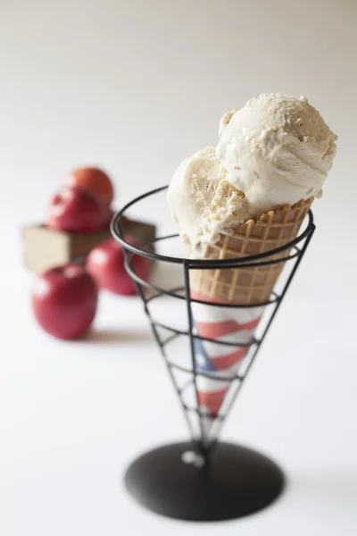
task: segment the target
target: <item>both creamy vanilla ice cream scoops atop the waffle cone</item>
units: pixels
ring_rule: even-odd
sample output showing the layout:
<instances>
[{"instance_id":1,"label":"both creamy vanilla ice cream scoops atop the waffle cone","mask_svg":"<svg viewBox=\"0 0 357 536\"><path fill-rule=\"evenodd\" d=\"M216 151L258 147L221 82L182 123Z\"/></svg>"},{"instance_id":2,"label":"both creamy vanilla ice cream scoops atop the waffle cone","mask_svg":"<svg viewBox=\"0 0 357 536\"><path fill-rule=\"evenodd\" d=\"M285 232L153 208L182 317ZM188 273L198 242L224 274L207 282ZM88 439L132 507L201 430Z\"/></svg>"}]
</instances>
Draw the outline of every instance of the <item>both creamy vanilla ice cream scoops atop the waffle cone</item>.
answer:
<instances>
[{"instance_id":1,"label":"both creamy vanilla ice cream scoops atop the waffle cone","mask_svg":"<svg viewBox=\"0 0 357 536\"><path fill-rule=\"evenodd\" d=\"M220 120L218 146L179 165L169 187L181 237L199 254L249 218L319 197L336 135L303 97L265 93Z\"/></svg>"}]
</instances>

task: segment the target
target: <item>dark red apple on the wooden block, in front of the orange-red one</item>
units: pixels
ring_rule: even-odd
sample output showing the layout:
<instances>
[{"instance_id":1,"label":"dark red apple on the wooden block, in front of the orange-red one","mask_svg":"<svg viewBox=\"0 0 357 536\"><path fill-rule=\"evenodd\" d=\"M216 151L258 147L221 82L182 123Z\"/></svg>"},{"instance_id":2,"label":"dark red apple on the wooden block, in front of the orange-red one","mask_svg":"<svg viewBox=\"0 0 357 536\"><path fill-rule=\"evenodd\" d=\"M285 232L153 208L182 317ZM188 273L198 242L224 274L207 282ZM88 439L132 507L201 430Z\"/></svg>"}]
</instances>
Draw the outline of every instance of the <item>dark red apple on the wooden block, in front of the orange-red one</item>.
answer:
<instances>
[{"instance_id":1,"label":"dark red apple on the wooden block, in front of the orange-red one","mask_svg":"<svg viewBox=\"0 0 357 536\"><path fill-rule=\"evenodd\" d=\"M69 232L94 232L108 227L110 209L92 192L77 186L63 187L49 206L46 226Z\"/></svg>"}]
</instances>

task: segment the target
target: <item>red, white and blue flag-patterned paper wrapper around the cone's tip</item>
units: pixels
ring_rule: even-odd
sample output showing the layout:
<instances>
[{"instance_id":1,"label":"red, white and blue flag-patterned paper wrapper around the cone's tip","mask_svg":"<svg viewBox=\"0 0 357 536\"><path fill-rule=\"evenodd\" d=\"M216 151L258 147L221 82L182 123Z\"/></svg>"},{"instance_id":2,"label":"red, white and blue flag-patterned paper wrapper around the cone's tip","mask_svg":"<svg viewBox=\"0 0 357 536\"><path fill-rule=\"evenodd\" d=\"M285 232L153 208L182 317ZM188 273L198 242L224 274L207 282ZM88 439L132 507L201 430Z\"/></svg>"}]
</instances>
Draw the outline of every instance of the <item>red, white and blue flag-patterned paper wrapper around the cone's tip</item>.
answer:
<instances>
[{"instance_id":1,"label":"red, white and blue flag-patterned paper wrapper around the cone's tip","mask_svg":"<svg viewBox=\"0 0 357 536\"><path fill-rule=\"evenodd\" d=\"M195 291L191 291L191 297L208 301L207 297ZM224 302L217 303L224 305ZM204 420L207 435L231 384L229 376L237 375L243 358L251 348L254 331L265 307L220 307L196 302L191 302L191 307L195 335L212 339L194 339L198 403L203 413L211 414L210 419ZM247 346L228 346L224 342ZM200 373L209 374L209 377ZM222 377L227 380L220 379Z\"/></svg>"}]
</instances>

